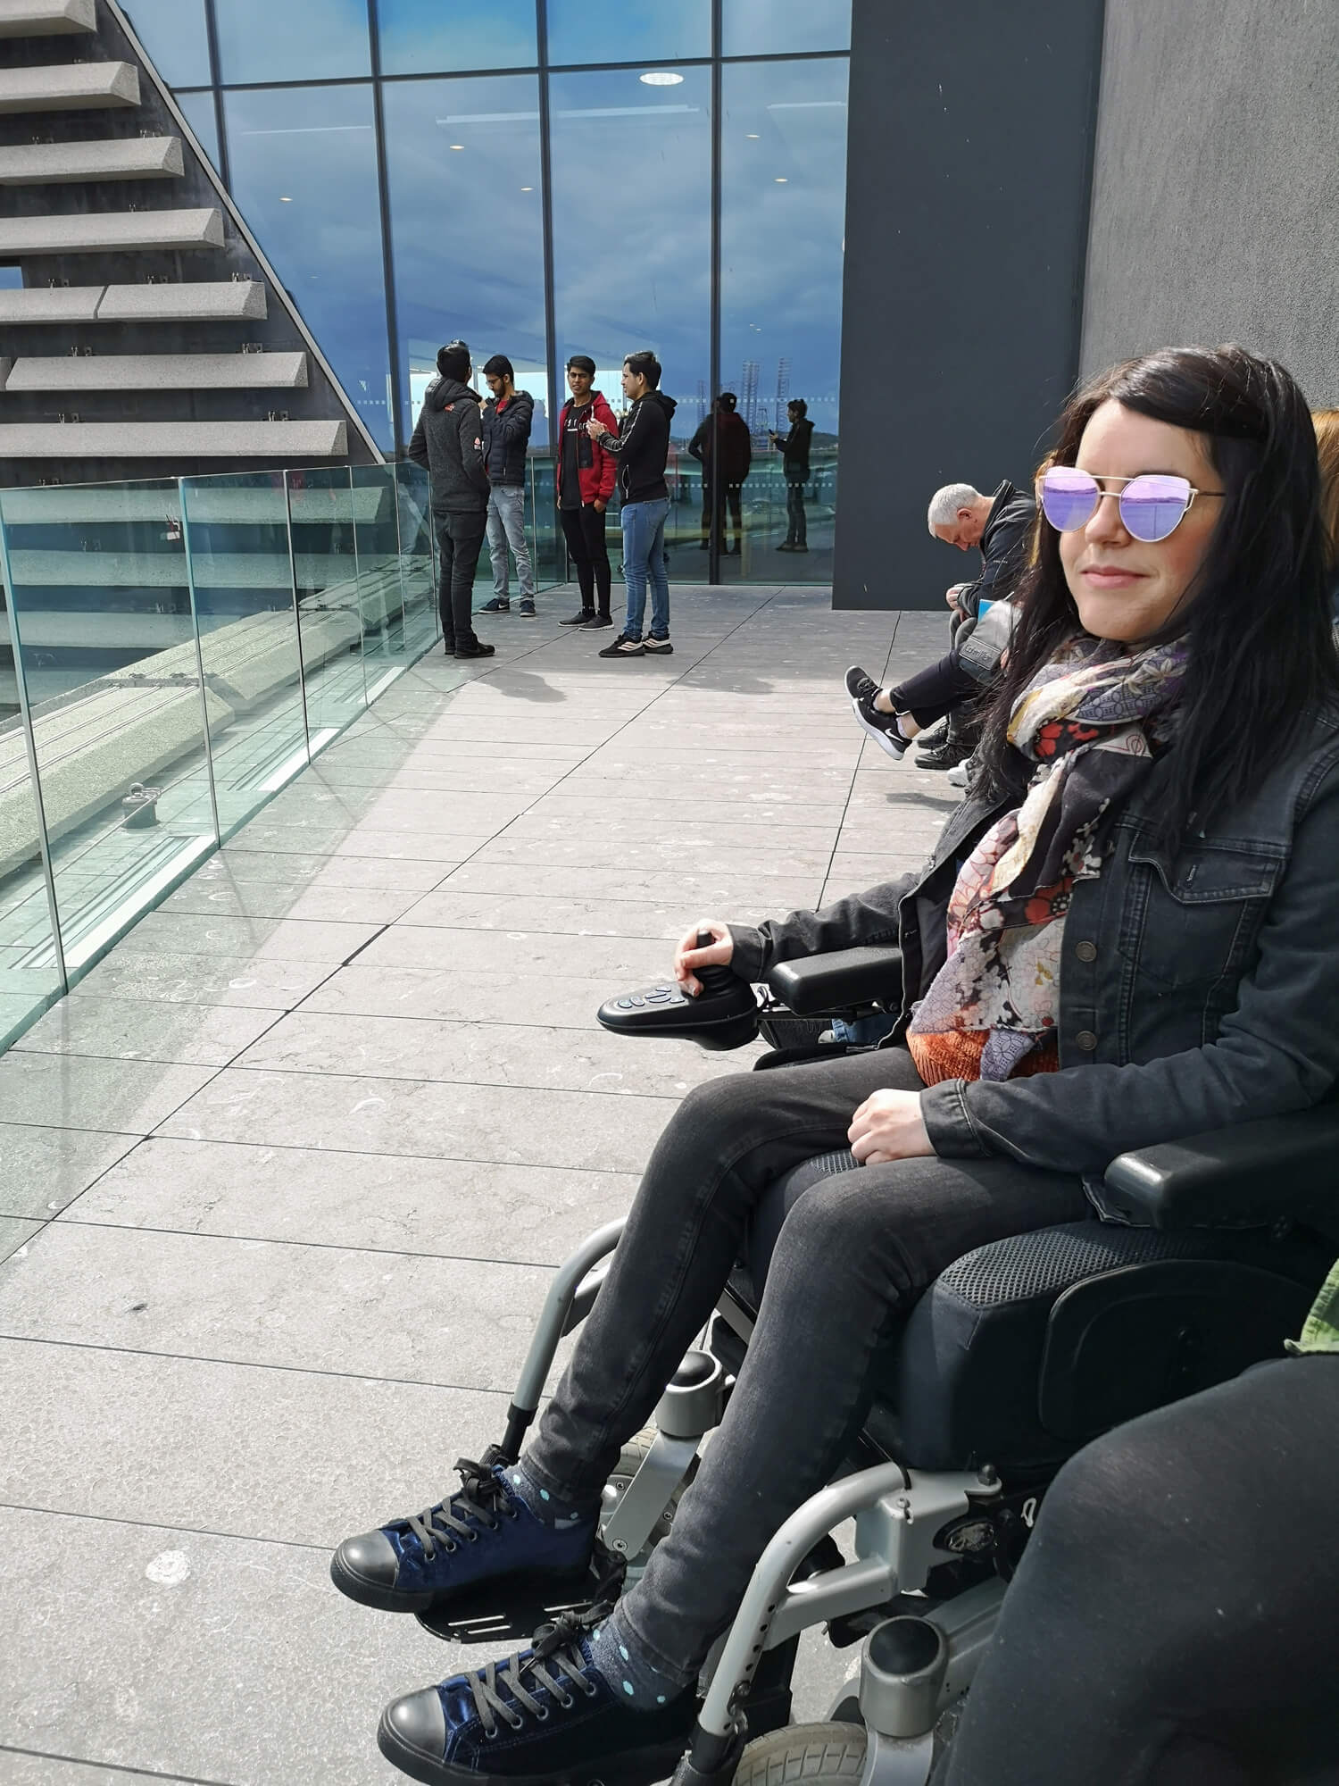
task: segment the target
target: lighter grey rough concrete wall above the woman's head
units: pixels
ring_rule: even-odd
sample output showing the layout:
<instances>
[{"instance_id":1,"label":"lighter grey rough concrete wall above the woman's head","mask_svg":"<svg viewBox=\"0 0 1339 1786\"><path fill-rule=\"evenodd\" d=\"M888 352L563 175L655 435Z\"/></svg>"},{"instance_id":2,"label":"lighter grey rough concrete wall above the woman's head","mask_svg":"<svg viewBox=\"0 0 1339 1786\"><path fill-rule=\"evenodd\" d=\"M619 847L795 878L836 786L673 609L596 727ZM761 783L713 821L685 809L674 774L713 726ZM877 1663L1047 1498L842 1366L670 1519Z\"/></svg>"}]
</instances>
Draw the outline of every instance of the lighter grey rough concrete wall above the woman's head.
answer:
<instances>
[{"instance_id":1,"label":"lighter grey rough concrete wall above the woman's head","mask_svg":"<svg viewBox=\"0 0 1339 1786\"><path fill-rule=\"evenodd\" d=\"M1084 370L1182 341L1339 402L1339 0L1107 0Z\"/></svg>"}]
</instances>

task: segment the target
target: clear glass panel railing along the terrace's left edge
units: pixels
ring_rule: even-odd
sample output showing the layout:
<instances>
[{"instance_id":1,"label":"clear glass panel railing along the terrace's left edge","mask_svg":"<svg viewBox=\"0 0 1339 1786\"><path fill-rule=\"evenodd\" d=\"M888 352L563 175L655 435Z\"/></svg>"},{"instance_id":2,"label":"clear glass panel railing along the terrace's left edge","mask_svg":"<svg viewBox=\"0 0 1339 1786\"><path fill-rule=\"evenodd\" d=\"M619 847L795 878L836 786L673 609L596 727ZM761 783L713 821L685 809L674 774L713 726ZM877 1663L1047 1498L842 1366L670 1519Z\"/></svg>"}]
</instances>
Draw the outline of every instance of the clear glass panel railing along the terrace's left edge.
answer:
<instances>
[{"instance_id":1,"label":"clear glass panel railing along the terrace's left edge","mask_svg":"<svg viewBox=\"0 0 1339 1786\"><path fill-rule=\"evenodd\" d=\"M2 1050L441 630L414 464L0 489L0 584Z\"/></svg>"}]
</instances>

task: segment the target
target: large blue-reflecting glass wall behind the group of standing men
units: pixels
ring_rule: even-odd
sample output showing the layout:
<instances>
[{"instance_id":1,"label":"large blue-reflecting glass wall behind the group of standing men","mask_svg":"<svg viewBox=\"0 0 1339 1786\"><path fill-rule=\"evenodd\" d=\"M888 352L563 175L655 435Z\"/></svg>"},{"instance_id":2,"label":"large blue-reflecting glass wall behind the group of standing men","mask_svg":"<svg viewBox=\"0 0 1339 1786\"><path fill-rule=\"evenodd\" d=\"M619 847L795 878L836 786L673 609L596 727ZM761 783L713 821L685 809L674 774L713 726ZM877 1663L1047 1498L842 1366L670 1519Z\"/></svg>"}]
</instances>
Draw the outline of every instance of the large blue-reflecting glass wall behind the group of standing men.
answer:
<instances>
[{"instance_id":1,"label":"large blue-reflecting glass wall behind the group of standing men","mask_svg":"<svg viewBox=\"0 0 1339 1786\"><path fill-rule=\"evenodd\" d=\"M528 507L557 561L568 355L620 409L623 355L650 346L677 402L671 577L830 580L848 0L129 11L387 454L443 341L470 343L480 388L505 354L536 400ZM809 443L787 455L794 398ZM616 509L607 525L616 548Z\"/></svg>"}]
</instances>

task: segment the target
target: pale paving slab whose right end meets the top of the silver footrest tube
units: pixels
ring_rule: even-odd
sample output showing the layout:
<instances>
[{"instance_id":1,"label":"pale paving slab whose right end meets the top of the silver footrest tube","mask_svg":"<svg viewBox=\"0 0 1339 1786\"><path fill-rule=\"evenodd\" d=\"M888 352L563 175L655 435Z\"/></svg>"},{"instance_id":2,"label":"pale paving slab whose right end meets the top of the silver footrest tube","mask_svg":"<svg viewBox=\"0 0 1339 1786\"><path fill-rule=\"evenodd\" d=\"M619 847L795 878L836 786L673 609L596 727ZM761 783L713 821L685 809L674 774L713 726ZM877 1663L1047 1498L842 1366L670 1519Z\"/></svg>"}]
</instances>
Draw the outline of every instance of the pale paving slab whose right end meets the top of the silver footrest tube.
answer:
<instances>
[{"instance_id":1,"label":"pale paving slab whose right end meets the top of the silver footrest tube","mask_svg":"<svg viewBox=\"0 0 1339 1786\"><path fill-rule=\"evenodd\" d=\"M70 1216L182 1234L561 1264L593 1229L627 1214L636 1188L636 1172L445 1164L403 1154L152 1136L87 1189Z\"/></svg>"}]
</instances>

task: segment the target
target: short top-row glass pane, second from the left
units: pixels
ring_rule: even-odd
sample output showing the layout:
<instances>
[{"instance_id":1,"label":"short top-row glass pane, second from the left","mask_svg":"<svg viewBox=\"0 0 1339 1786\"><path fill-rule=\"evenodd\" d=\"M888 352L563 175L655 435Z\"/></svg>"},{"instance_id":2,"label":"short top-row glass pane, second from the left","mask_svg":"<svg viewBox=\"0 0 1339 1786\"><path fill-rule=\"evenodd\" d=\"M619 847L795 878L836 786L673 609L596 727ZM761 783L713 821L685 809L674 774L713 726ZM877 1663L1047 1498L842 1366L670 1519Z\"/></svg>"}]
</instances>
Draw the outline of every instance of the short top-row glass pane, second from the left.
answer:
<instances>
[{"instance_id":1,"label":"short top-row glass pane, second from the left","mask_svg":"<svg viewBox=\"0 0 1339 1786\"><path fill-rule=\"evenodd\" d=\"M225 84L371 71L366 0L218 0L214 21Z\"/></svg>"}]
</instances>

